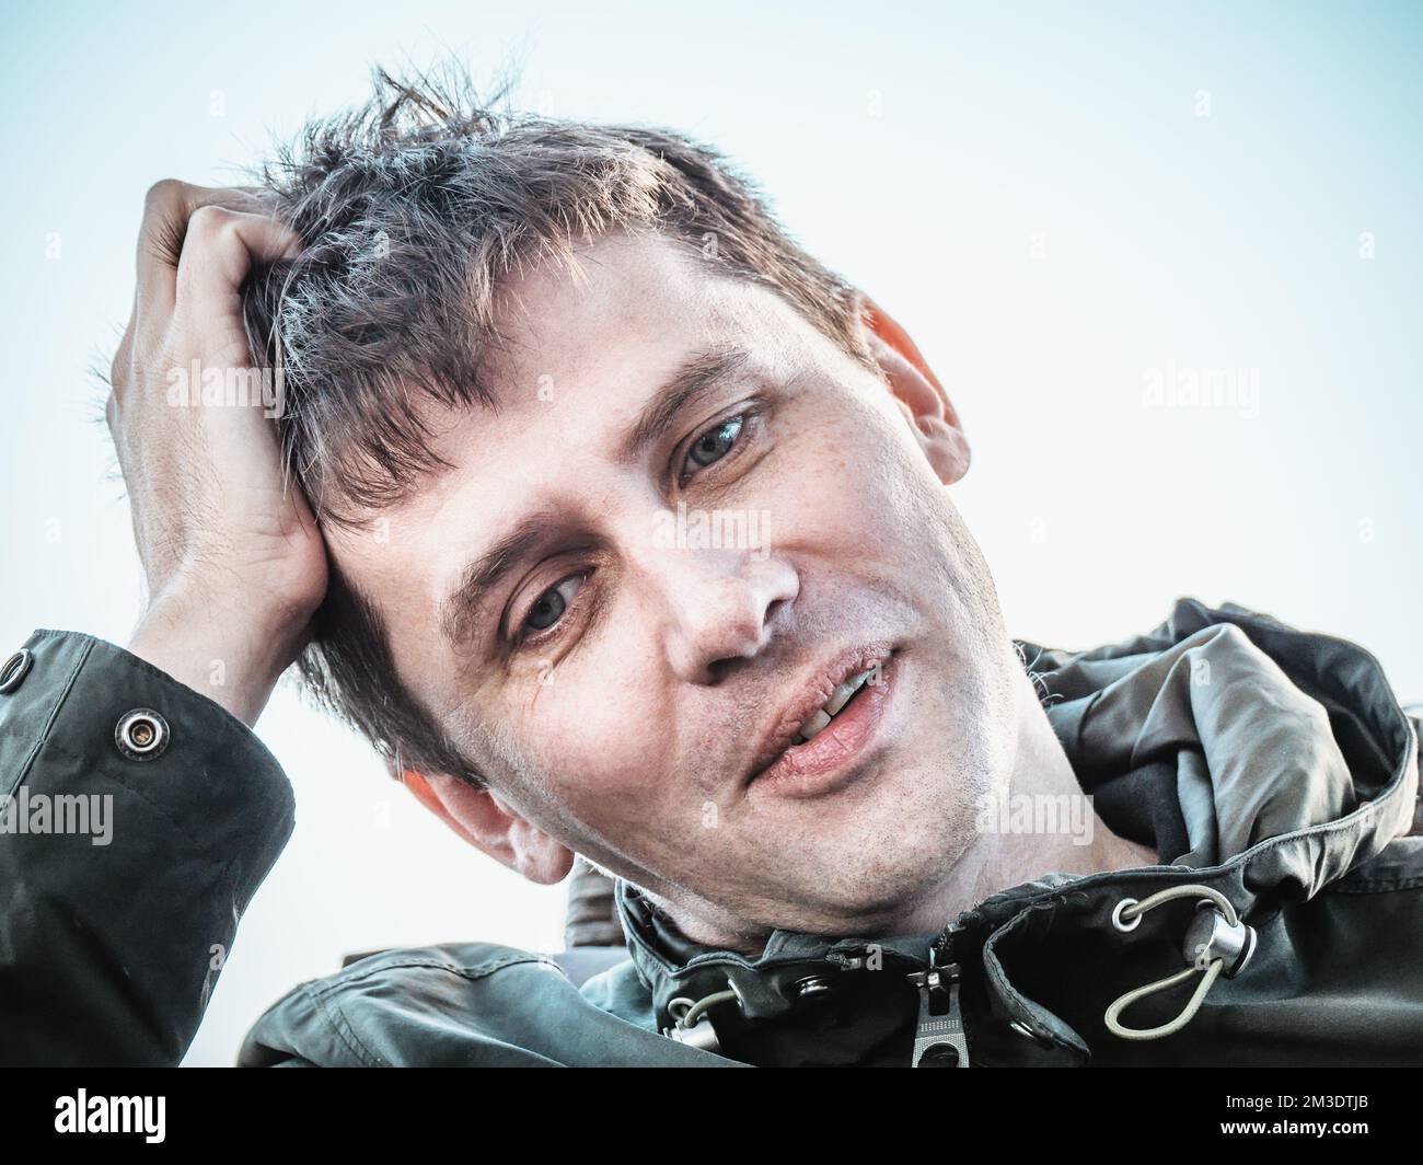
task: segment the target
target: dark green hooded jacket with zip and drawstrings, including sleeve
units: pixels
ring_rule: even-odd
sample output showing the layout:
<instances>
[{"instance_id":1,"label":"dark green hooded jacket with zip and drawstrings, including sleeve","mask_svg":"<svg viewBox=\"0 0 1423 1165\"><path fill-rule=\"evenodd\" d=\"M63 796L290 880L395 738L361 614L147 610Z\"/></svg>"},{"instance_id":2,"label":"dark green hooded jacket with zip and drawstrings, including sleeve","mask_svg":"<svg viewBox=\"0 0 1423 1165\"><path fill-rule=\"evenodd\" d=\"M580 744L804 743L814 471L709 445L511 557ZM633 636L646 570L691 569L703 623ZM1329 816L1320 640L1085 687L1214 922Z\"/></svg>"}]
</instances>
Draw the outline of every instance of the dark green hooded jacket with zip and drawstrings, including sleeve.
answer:
<instances>
[{"instance_id":1,"label":"dark green hooded jacket with zip and drawstrings, including sleeve","mask_svg":"<svg viewBox=\"0 0 1423 1165\"><path fill-rule=\"evenodd\" d=\"M176 1064L290 836L290 786L128 652L55 631L26 651L0 672L0 1060ZM1161 864L1016 886L933 934L777 931L754 958L689 943L618 883L630 957L578 987L492 943L387 951L279 1000L239 1062L1423 1062L1419 739L1377 662L1194 601L1124 644L1025 658L1097 813ZM161 715L157 748L135 709ZM107 845L34 816L91 795L112 796ZM1170 976L1118 1018L1164 1025L1204 990L1174 1034L1109 1028L1114 1000Z\"/></svg>"}]
</instances>

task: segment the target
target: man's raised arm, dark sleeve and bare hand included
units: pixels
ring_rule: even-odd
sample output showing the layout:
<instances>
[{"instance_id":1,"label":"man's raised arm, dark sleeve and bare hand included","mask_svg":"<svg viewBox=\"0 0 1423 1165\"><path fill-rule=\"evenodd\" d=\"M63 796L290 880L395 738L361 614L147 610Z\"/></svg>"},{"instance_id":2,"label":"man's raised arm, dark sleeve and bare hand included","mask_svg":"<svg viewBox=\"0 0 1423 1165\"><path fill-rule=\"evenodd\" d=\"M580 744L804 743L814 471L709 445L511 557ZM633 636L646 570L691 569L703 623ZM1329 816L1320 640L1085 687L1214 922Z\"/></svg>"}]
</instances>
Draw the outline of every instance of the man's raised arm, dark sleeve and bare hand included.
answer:
<instances>
[{"instance_id":1,"label":"man's raised arm, dark sleeve and bare hand included","mask_svg":"<svg viewBox=\"0 0 1423 1165\"><path fill-rule=\"evenodd\" d=\"M0 1062L178 1062L290 836L250 725L326 555L239 289L296 248L250 194L149 192L108 403L148 597L127 651L41 631L0 671Z\"/></svg>"}]
</instances>

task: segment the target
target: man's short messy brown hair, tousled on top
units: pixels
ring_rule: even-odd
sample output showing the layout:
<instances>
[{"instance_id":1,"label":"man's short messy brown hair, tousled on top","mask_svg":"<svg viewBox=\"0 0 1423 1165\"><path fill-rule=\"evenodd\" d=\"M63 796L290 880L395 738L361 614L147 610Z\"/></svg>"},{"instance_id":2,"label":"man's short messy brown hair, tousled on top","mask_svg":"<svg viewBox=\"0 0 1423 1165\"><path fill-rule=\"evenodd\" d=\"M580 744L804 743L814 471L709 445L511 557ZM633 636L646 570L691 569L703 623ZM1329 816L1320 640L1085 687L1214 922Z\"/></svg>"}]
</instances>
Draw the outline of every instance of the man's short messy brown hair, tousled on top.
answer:
<instances>
[{"instance_id":1,"label":"man's short messy brown hair, tousled on top","mask_svg":"<svg viewBox=\"0 0 1423 1165\"><path fill-rule=\"evenodd\" d=\"M243 288L253 356L283 373L286 464L327 524L360 526L441 469L421 397L495 403L501 281L579 244L656 232L781 295L872 367L854 289L805 254L714 150L682 134L515 113L467 74L376 73L360 108L310 122L260 172L300 235ZM333 570L300 661L309 689L396 768L482 783L396 676L380 614Z\"/></svg>"}]
</instances>

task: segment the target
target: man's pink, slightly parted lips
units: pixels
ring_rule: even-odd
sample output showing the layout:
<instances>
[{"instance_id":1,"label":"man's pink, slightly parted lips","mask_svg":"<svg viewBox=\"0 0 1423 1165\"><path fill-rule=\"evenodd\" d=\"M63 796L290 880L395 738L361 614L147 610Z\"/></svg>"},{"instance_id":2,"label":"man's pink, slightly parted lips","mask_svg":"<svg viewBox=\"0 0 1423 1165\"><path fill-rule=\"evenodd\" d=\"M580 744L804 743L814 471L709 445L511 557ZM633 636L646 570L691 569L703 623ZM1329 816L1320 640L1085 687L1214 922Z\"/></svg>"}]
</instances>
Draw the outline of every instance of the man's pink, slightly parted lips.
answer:
<instances>
[{"instance_id":1,"label":"man's pink, slightly parted lips","mask_svg":"<svg viewBox=\"0 0 1423 1165\"><path fill-rule=\"evenodd\" d=\"M884 719L894 688L895 657L889 644L871 644L842 652L807 676L798 685L803 695L784 708L763 738L747 788L788 796L815 796L835 788L854 769ZM800 726L840 684L877 665L878 684L865 684L814 739L793 743Z\"/></svg>"}]
</instances>

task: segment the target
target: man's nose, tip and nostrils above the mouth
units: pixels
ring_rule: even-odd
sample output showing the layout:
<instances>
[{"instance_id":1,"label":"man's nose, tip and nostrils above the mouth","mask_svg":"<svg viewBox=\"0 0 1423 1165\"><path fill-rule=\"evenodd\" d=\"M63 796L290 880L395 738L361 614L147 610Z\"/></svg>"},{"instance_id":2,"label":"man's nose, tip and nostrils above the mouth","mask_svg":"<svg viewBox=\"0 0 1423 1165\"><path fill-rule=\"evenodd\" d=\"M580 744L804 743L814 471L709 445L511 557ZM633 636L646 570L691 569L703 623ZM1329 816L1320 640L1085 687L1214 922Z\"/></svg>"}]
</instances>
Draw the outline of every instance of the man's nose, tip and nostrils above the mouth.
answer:
<instances>
[{"instance_id":1,"label":"man's nose, tip and nostrils above the mouth","mask_svg":"<svg viewBox=\"0 0 1423 1165\"><path fill-rule=\"evenodd\" d=\"M659 558L663 649L673 674L689 684L719 684L754 659L800 592L795 570L774 554L665 550Z\"/></svg>"}]
</instances>

